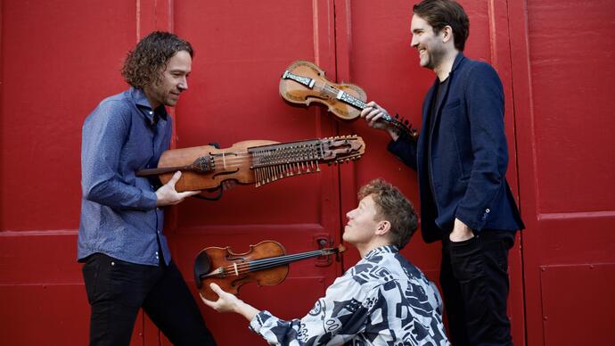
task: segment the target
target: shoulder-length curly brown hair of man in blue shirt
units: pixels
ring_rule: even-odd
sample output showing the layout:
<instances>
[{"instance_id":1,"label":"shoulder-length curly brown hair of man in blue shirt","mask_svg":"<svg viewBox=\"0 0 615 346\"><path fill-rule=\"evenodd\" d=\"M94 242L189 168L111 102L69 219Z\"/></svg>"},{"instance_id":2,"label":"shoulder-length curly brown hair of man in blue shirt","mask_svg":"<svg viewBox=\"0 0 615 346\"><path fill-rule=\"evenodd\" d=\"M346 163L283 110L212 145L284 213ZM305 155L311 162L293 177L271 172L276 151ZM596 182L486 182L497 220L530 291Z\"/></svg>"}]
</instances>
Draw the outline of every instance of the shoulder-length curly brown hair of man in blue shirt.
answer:
<instances>
[{"instance_id":1,"label":"shoulder-length curly brown hair of man in blue shirt","mask_svg":"<svg viewBox=\"0 0 615 346\"><path fill-rule=\"evenodd\" d=\"M122 76L126 82L143 89L160 78L160 70L167 67L168 59L179 51L186 51L192 57L193 46L170 32L153 31L128 52Z\"/></svg>"}]
</instances>

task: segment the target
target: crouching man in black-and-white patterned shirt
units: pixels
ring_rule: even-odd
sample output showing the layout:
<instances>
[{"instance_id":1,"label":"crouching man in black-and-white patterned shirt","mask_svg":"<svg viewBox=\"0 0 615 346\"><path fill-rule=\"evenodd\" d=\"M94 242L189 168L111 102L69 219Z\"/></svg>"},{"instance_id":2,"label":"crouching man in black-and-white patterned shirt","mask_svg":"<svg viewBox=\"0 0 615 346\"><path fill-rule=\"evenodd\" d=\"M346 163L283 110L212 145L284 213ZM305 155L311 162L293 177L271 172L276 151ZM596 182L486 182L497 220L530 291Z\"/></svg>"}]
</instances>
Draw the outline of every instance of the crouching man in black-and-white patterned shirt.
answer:
<instances>
[{"instance_id":1,"label":"crouching man in black-and-white patterned shirt","mask_svg":"<svg viewBox=\"0 0 615 346\"><path fill-rule=\"evenodd\" d=\"M273 345L448 345L439 292L402 255L417 227L411 202L376 179L363 186L348 212L344 241L361 260L327 289L305 317L284 321L211 284L219 298L203 299L219 312L236 312Z\"/></svg>"}]
</instances>

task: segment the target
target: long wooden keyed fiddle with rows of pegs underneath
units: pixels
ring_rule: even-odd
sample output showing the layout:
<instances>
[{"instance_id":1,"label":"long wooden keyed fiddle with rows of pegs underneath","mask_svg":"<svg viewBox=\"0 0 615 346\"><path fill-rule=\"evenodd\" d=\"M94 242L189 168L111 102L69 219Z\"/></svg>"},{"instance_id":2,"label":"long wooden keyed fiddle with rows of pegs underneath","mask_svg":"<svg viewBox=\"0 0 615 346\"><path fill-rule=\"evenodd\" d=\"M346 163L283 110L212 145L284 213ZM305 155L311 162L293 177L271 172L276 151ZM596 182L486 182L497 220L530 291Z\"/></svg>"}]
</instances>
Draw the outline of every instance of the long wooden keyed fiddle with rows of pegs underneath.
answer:
<instances>
[{"instance_id":1,"label":"long wooden keyed fiddle with rows of pegs underneath","mask_svg":"<svg viewBox=\"0 0 615 346\"><path fill-rule=\"evenodd\" d=\"M360 136L290 143L252 140L225 149L203 145L168 150L162 152L158 168L142 169L136 175L157 175L162 184L167 184L173 173L181 170L177 192L216 188L228 179L240 184L256 183L259 187L284 177L319 172L321 163L355 161L364 153L365 143Z\"/></svg>"}]
</instances>

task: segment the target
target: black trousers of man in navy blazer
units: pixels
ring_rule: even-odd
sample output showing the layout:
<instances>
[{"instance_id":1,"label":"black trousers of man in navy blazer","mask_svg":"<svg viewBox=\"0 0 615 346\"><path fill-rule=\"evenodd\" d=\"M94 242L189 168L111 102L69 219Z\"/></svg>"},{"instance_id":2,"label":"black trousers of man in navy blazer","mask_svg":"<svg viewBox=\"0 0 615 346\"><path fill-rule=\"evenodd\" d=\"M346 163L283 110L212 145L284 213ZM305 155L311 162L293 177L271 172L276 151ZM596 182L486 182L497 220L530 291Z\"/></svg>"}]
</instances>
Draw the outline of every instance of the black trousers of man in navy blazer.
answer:
<instances>
[{"instance_id":1,"label":"black trousers of man in navy blazer","mask_svg":"<svg viewBox=\"0 0 615 346\"><path fill-rule=\"evenodd\" d=\"M440 284L455 346L512 345L506 300L514 235L485 229L463 242L442 240Z\"/></svg>"}]
</instances>

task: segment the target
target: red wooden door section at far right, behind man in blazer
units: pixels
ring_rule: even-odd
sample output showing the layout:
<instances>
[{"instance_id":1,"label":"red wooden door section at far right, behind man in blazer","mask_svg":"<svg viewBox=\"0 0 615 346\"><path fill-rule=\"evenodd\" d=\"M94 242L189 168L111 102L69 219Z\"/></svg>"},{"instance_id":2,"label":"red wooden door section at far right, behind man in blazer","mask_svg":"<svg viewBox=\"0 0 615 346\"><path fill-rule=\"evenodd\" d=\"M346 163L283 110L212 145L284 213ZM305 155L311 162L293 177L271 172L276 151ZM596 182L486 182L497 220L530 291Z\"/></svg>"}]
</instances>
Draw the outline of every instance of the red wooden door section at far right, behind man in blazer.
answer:
<instances>
[{"instance_id":1,"label":"red wooden door section at far right, behind man in blazer","mask_svg":"<svg viewBox=\"0 0 615 346\"><path fill-rule=\"evenodd\" d=\"M615 3L515 0L509 14L528 343L612 345Z\"/></svg>"}]
</instances>

